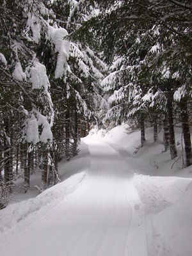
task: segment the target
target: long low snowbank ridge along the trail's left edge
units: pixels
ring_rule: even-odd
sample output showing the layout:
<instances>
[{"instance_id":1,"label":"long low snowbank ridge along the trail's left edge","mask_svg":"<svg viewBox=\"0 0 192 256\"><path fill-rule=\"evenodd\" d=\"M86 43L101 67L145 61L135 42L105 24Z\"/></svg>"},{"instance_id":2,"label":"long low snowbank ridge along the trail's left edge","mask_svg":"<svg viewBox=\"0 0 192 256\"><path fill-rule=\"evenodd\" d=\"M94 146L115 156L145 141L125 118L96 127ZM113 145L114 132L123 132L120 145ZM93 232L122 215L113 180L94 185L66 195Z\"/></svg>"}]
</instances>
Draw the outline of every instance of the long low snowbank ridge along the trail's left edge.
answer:
<instances>
[{"instance_id":1,"label":"long low snowbank ridge along the trail's left edge","mask_svg":"<svg viewBox=\"0 0 192 256\"><path fill-rule=\"evenodd\" d=\"M45 190L36 196L36 198L31 198L18 204L8 205L8 207L0 211L0 233L8 228L13 229L17 223L28 218L29 214L33 212L43 208L45 208L44 211L46 212L47 206L54 207L54 205L77 189L85 175L85 172L77 173L60 184L56 184L52 188Z\"/></svg>"}]
</instances>

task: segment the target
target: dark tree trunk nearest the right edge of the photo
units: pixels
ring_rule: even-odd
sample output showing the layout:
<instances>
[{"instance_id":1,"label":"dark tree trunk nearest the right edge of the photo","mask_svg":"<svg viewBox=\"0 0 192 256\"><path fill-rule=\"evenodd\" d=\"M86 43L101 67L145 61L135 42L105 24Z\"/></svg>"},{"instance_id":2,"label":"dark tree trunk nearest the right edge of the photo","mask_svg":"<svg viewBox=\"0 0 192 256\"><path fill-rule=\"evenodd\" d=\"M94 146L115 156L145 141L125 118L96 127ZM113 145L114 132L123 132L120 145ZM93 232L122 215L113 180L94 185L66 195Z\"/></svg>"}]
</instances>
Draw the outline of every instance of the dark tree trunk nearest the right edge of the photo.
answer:
<instances>
[{"instance_id":1,"label":"dark tree trunk nearest the right edge of the photo","mask_svg":"<svg viewBox=\"0 0 192 256\"><path fill-rule=\"evenodd\" d=\"M180 106L180 115L182 121L182 132L184 136L185 143L185 152L186 152L186 166L191 165L192 163L192 152L191 152L191 134L189 129L189 115L188 115L188 106L185 99L182 99L179 103Z\"/></svg>"}]
</instances>

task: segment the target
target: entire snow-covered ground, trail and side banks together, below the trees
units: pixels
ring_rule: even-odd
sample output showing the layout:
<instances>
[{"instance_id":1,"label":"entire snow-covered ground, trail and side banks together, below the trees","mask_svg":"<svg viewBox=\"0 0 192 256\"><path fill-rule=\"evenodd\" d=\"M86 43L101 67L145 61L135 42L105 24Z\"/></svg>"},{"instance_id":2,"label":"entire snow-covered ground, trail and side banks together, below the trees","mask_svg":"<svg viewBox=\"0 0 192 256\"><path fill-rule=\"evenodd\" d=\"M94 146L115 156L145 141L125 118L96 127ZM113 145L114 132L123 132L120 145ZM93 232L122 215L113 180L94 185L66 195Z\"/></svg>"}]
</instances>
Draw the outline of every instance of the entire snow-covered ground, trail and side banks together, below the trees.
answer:
<instances>
[{"instance_id":1,"label":"entire snow-covered ground, trail and side banks together, below the trees","mask_svg":"<svg viewBox=\"0 0 192 256\"><path fill-rule=\"evenodd\" d=\"M125 128L93 130L63 182L0 211L1 256L192 255L191 168Z\"/></svg>"}]
</instances>

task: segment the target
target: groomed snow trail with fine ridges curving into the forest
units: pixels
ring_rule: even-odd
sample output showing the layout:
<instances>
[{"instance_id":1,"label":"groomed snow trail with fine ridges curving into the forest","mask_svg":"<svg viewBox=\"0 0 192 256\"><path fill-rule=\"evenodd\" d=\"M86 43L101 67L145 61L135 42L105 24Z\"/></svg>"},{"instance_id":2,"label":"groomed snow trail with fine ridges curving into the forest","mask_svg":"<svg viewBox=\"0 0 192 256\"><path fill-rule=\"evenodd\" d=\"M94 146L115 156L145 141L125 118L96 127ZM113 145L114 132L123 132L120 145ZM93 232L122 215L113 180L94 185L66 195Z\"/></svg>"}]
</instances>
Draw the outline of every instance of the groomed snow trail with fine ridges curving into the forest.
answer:
<instances>
[{"instance_id":1,"label":"groomed snow trail with fine ridges curving into the forest","mask_svg":"<svg viewBox=\"0 0 192 256\"><path fill-rule=\"evenodd\" d=\"M139 198L131 170L106 143L88 141L88 147L90 170L81 186L45 220L10 237L1 256L148 255L145 224L134 209Z\"/></svg>"}]
</instances>

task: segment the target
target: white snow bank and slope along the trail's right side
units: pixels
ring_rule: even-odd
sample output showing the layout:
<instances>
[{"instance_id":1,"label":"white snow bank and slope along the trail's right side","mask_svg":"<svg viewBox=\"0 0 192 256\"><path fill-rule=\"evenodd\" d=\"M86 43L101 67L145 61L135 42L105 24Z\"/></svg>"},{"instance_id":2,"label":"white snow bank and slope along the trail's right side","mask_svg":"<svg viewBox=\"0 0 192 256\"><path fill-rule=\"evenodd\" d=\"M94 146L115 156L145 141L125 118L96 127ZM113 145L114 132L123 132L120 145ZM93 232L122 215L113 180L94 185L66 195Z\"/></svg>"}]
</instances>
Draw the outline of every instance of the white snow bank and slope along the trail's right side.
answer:
<instances>
[{"instance_id":1,"label":"white snow bank and slope along the trail's right side","mask_svg":"<svg viewBox=\"0 0 192 256\"><path fill-rule=\"evenodd\" d=\"M180 129L175 134L181 154ZM152 129L148 129L143 148L140 132L132 132L128 125L108 132L95 129L89 136L109 143L134 172L132 180L139 195L134 209L145 216L148 256L192 255L191 168L182 169L182 161L173 164L170 152L163 153L162 132L154 143Z\"/></svg>"}]
</instances>

